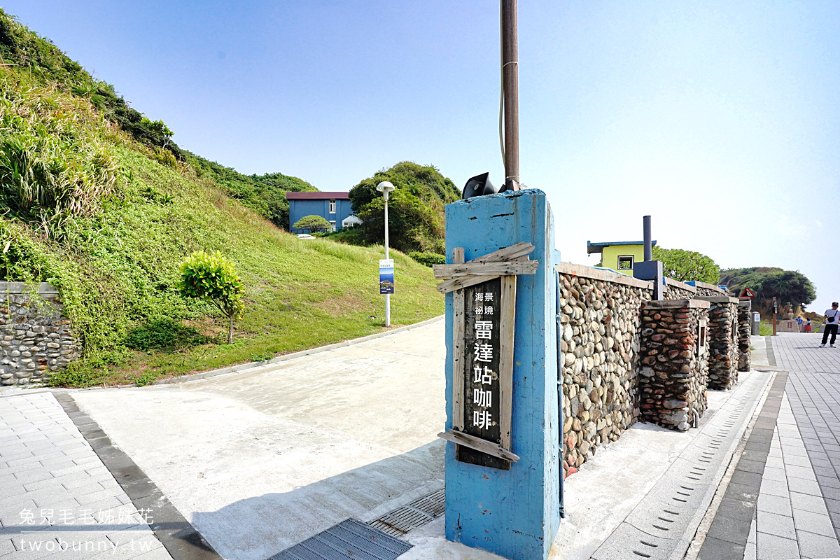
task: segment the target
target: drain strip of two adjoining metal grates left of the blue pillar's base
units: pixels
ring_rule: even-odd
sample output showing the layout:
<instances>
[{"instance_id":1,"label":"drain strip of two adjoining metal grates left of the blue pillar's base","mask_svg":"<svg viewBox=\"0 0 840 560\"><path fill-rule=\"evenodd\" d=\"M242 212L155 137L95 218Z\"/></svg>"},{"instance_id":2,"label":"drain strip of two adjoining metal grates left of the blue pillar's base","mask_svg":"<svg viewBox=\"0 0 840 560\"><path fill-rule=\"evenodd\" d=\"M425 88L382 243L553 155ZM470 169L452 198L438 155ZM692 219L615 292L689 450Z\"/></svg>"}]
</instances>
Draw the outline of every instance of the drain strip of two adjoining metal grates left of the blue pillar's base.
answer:
<instances>
[{"instance_id":1,"label":"drain strip of two adjoining metal grates left of the blue pillar's base","mask_svg":"<svg viewBox=\"0 0 840 560\"><path fill-rule=\"evenodd\" d=\"M397 537L444 515L445 489L363 523L347 519L299 542L269 560L395 560L412 547Z\"/></svg>"}]
</instances>

